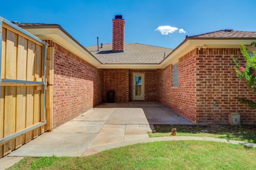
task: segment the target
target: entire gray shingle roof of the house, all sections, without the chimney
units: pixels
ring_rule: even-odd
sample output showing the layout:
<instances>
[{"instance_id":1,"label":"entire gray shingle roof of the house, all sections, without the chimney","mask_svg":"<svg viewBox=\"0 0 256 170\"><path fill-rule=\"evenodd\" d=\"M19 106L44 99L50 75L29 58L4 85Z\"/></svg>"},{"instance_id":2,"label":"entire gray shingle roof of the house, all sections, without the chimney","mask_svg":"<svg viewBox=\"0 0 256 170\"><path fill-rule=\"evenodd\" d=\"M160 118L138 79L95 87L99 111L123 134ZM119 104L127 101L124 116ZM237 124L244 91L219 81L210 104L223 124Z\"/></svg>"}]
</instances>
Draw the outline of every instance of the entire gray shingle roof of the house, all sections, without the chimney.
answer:
<instances>
[{"instance_id":1,"label":"entire gray shingle roof of the house, all sections, without the chimney","mask_svg":"<svg viewBox=\"0 0 256 170\"><path fill-rule=\"evenodd\" d=\"M186 39L174 50L171 48L157 47L138 43L125 43L124 52L113 53L112 44L103 44L103 47L97 51L97 45L84 47L76 41L71 35L67 33L60 25L47 23L18 23L13 22L22 28L59 28L66 35L68 35L78 45L83 47L86 51L91 53L94 58L103 64L158 64L161 63L171 52L174 52L179 46L185 43L188 39L255 39L256 32L252 31L233 31L231 29L213 31L211 33L199 34L195 36L188 36Z\"/></svg>"}]
</instances>

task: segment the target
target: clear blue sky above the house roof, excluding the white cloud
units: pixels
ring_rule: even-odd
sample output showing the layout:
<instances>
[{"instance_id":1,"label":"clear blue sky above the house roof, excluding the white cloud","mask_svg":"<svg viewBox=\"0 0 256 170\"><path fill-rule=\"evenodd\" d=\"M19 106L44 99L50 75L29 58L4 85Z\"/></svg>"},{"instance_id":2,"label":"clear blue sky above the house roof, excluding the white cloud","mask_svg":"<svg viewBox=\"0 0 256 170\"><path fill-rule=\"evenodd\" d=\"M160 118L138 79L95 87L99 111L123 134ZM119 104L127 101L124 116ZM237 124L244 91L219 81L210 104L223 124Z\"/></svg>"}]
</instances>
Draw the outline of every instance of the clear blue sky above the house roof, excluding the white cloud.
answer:
<instances>
[{"instance_id":1,"label":"clear blue sky above the house roof, excluding the white cloud","mask_svg":"<svg viewBox=\"0 0 256 170\"><path fill-rule=\"evenodd\" d=\"M220 29L256 31L256 1L3 1L9 21L58 23L84 46L111 43L116 14L125 19L125 42L175 48L186 35ZM183 28L162 35L159 26Z\"/></svg>"}]
</instances>

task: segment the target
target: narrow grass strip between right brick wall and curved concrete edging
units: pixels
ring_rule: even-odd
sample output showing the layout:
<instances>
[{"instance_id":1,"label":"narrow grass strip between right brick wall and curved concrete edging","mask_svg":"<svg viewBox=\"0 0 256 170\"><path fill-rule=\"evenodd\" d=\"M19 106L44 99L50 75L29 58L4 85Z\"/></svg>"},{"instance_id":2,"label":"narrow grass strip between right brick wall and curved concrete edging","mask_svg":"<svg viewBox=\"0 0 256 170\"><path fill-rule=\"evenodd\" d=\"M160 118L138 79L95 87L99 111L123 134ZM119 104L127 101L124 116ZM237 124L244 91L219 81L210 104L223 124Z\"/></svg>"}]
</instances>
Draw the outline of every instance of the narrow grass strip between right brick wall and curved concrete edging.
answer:
<instances>
[{"instance_id":1,"label":"narrow grass strip between right brick wall and curved concrete edging","mask_svg":"<svg viewBox=\"0 0 256 170\"><path fill-rule=\"evenodd\" d=\"M207 136L229 140L256 143L256 125L154 125L156 132L149 137L171 136L172 128L177 128L177 136Z\"/></svg>"}]
</instances>

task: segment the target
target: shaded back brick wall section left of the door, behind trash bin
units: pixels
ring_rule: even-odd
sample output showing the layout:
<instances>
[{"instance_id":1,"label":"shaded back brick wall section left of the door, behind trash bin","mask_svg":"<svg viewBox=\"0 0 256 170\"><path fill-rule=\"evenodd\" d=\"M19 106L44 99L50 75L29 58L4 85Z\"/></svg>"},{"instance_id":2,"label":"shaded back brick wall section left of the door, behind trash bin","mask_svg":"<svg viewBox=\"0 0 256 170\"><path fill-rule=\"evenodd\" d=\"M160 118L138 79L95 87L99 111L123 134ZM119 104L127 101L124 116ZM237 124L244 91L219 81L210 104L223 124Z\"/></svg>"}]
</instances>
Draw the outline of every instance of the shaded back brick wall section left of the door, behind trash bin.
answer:
<instances>
[{"instance_id":1,"label":"shaded back brick wall section left of the door, behind trash bin","mask_svg":"<svg viewBox=\"0 0 256 170\"><path fill-rule=\"evenodd\" d=\"M115 91L115 102L129 102L129 69L103 69L103 100L107 92Z\"/></svg>"}]
</instances>

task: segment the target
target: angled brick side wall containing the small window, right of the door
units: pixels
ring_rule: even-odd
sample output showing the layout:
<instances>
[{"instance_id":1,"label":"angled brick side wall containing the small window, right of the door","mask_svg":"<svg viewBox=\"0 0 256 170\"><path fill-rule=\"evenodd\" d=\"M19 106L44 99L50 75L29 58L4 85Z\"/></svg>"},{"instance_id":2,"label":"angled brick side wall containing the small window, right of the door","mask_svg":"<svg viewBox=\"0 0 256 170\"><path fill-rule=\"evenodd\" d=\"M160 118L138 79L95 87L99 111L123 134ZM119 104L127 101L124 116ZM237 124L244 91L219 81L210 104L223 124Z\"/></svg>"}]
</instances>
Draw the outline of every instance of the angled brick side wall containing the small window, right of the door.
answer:
<instances>
[{"instance_id":1,"label":"angled brick side wall containing the small window, right of the door","mask_svg":"<svg viewBox=\"0 0 256 170\"><path fill-rule=\"evenodd\" d=\"M157 101L196 123L196 50L179 59L179 86L172 86L172 65L157 70Z\"/></svg>"}]
</instances>

